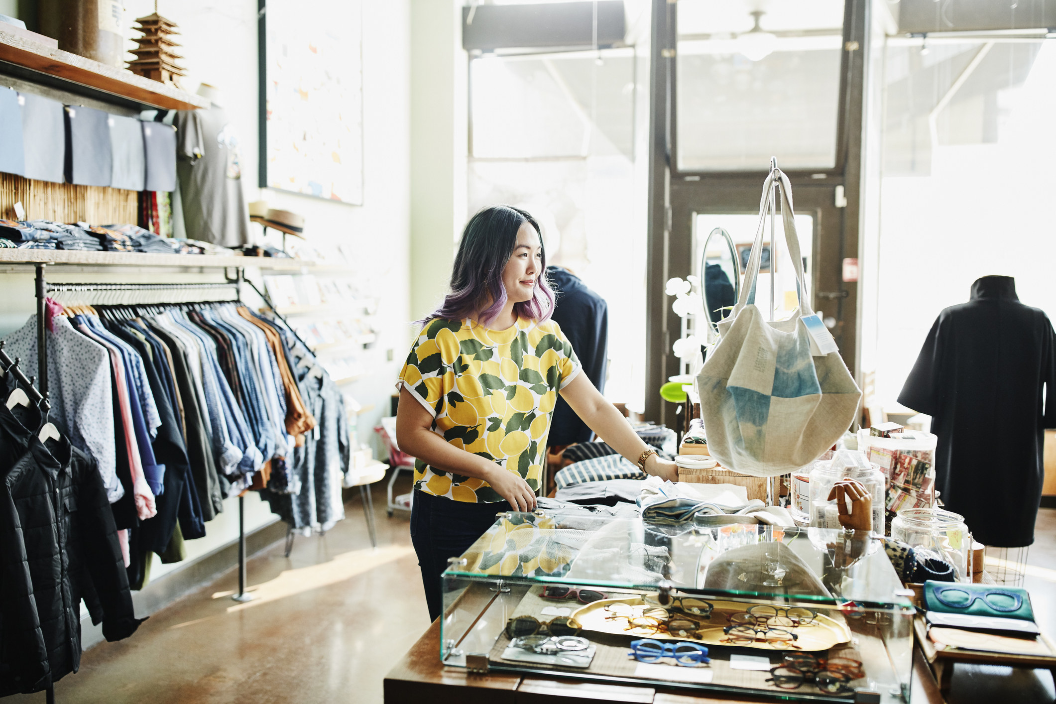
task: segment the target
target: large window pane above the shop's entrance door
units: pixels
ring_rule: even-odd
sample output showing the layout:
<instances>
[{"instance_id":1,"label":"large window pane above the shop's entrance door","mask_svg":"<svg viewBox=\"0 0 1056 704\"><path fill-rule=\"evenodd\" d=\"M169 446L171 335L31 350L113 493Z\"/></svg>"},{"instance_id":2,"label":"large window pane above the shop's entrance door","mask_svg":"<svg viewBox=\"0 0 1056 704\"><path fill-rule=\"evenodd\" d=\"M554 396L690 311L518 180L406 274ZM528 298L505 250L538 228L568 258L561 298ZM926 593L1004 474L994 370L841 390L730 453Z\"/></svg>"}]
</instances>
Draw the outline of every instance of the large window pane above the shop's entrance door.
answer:
<instances>
[{"instance_id":1,"label":"large window pane above the shop's entrance door","mask_svg":"<svg viewBox=\"0 0 1056 704\"><path fill-rule=\"evenodd\" d=\"M833 168L843 0L752 7L678 3L679 170Z\"/></svg>"}]
</instances>

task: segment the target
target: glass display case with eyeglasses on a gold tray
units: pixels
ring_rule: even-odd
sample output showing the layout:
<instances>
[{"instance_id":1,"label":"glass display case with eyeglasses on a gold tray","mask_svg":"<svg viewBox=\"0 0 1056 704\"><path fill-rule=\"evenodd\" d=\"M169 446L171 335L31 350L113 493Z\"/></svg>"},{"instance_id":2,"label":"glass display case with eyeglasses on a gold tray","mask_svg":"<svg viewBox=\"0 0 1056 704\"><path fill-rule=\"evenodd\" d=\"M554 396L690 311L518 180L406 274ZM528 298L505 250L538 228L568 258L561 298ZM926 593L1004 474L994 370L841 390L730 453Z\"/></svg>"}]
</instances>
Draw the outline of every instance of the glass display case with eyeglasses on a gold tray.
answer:
<instances>
[{"instance_id":1,"label":"glass display case with eyeglasses on a gold tray","mask_svg":"<svg viewBox=\"0 0 1056 704\"><path fill-rule=\"evenodd\" d=\"M442 576L440 659L807 701L908 702L911 592L882 538L629 505L497 514Z\"/></svg>"}]
</instances>

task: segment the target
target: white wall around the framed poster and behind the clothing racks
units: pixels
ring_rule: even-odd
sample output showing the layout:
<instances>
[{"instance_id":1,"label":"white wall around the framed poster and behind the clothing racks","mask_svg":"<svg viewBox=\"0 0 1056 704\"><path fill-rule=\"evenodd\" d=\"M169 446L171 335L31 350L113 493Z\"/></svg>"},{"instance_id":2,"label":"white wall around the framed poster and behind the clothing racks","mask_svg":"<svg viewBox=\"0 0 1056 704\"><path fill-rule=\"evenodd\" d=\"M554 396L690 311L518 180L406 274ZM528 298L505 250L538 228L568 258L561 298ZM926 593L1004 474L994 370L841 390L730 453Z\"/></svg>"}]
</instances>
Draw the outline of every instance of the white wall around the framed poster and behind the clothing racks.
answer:
<instances>
[{"instance_id":1,"label":"white wall around the framed poster and behind the clothing racks","mask_svg":"<svg viewBox=\"0 0 1056 704\"><path fill-rule=\"evenodd\" d=\"M339 1L339 0L332 0ZM126 26L136 17L154 12L152 0L126 0ZM379 298L376 319L378 340L364 350L361 361L369 374L344 387L364 407L358 421L360 440L373 442L371 429L389 415L389 398L406 356L410 313L410 2L364 0L363 2L363 103L364 103L364 201L348 206L298 194L257 187L258 154L258 55L256 0L183 0L163 3L163 14L180 25L180 53L188 70L185 88L196 90L208 82L223 91L223 107L242 144L243 188L246 201L266 199L271 207L293 210L306 218L308 244L326 249L347 245L356 253L352 268ZM132 36L133 33L128 33ZM130 41L130 45L132 42ZM260 233L252 227L254 235ZM194 236L189 233L189 236ZM450 237L448 237L450 239ZM67 281L90 281L90 273L60 277ZM125 269L96 275L106 281L208 280L218 274L188 275ZM250 274L252 275L252 274ZM176 277L181 277L177 279ZM260 280L257 279L259 282ZM32 277L0 277L0 336L21 326L34 311ZM388 361L389 351L397 361ZM377 450L377 448L376 448ZM246 528L251 530L274 519L267 503L257 496L246 501ZM238 503L225 502L224 513L206 524L206 537L187 543L193 559L238 536ZM176 565L152 568L152 578L177 569Z\"/></svg>"}]
</instances>

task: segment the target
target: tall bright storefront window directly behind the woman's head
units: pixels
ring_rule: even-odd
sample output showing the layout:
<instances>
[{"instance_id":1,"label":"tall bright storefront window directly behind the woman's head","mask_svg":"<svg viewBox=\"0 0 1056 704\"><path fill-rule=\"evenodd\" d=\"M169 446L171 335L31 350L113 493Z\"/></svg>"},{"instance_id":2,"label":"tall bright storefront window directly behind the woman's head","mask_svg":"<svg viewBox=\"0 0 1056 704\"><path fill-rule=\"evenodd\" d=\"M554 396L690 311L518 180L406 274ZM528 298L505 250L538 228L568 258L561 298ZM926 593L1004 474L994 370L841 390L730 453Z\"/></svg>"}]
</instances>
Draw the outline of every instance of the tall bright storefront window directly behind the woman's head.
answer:
<instances>
[{"instance_id":1,"label":"tall bright storefront window directly behind the woman's head","mask_svg":"<svg viewBox=\"0 0 1056 704\"><path fill-rule=\"evenodd\" d=\"M638 411L645 385L644 73L633 46L473 58L468 166L469 212L496 203L525 208L544 229L548 259L605 299L605 396Z\"/></svg>"}]
</instances>

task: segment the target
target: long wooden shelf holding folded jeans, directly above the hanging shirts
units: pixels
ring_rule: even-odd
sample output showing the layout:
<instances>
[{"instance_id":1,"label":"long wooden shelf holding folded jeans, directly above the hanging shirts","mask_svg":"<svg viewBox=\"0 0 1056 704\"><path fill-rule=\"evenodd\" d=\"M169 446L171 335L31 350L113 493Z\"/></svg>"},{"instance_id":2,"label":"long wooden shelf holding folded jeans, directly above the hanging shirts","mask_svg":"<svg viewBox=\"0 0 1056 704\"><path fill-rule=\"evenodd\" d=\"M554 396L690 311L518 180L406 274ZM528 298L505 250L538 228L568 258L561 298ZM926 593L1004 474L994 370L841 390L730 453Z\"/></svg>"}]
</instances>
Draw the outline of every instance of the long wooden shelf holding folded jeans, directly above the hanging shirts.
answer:
<instances>
[{"instance_id":1,"label":"long wooden shelf holding folded jeans, directly above the hanging shirts","mask_svg":"<svg viewBox=\"0 0 1056 704\"><path fill-rule=\"evenodd\" d=\"M0 265L51 264L67 266L164 266L188 268L258 267L300 270L314 262L281 256L219 256L214 254L147 254L64 249L0 249Z\"/></svg>"}]
</instances>

